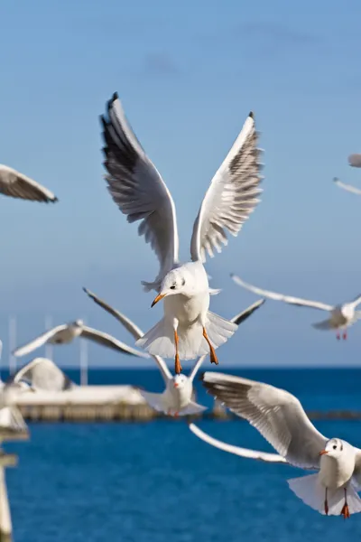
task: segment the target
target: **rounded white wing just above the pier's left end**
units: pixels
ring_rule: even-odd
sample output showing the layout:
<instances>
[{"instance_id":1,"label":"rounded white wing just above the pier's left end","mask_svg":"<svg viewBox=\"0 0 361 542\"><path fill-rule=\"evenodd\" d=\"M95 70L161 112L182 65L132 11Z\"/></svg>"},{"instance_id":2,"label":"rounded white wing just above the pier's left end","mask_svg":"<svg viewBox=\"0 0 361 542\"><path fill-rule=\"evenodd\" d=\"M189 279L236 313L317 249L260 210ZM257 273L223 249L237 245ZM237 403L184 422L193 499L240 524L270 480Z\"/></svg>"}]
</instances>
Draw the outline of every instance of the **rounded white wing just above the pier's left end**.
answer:
<instances>
[{"instance_id":1,"label":"rounded white wing just above the pier's left end","mask_svg":"<svg viewBox=\"0 0 361 542\"><path fill-rule=\"evenodd\" d=\"M63 391L76 388L76 384L51 360L35 358L6 381L6 385L26 380L35 389L46 391Z\"/></svg>"}]
</instances>

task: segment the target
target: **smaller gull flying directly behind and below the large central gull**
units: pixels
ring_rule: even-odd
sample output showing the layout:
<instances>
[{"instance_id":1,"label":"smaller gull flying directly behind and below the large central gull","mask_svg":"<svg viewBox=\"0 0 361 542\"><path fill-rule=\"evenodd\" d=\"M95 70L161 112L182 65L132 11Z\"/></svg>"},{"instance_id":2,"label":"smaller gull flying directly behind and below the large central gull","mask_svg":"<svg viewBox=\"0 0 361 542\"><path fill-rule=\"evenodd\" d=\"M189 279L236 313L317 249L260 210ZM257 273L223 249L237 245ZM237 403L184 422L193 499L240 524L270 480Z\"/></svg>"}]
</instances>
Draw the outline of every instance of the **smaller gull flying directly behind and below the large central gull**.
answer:
<instances>
[{"instance_id":1,"label":"smaller gull flying directly behind and below the large central gull","mask_svg":"<svg viewBox=\"0 0 361 542\"><path fill-rule=\"evenodd\" d=\"M96 304L101 306L106 310L107 313L112 314L116 320L121 322L125 329L134 336L135 340L143 337L142 330L124 314L116 311L116 309L109 304L106 304L105 301L97 297L96 294L90 292L87 288L83 288L83 290ZM237 314L231 320L231 322L234 322L237 326L240 323L245 322L245 320L252 313L254 313L261 305L264 304L264 302L264 299L256 301L254 304L245 309L245 311ZM163 360L161 356L153 355L153 359L156 361L158 368L161 371L165 389L162 393L150 393L140 389L140 393L148 405L152 406L154 410L157 410L158 412L176 417L199 414L200 412L207 410L206 406L198 405L193 401L193 380L196 377L201 364L206 359L205 355L201 356L199 360L197 360L188 377L184 374L176 374L173 377L165 360Z\"/></svg>"}]
</instances>

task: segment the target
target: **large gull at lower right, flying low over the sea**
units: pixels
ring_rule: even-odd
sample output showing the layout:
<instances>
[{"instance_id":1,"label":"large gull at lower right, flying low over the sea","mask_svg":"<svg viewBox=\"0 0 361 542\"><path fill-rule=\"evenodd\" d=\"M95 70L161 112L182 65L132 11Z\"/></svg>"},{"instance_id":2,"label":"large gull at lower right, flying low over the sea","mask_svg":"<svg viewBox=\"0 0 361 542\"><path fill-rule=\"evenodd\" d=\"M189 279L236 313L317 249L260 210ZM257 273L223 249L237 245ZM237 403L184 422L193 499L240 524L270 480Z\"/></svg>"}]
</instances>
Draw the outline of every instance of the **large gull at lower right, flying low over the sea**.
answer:
<instances>
[{"instance_id":1,"label":"large gull at lower right, flying low over the sea","mask_svg":"<svg viewBox=\"0 0 361 542\"><path fill-rule=\"evenodd\" d=\"M288 481L305 504L320 514L341 514L345 519L361 511L357 495L361 490L361 450L339 438L321 435L297 397L262 382L222 373L206 372L202 380L212 396L272 444L284 458L277 463L318 471Z\"/></svg>"}]
</instances>

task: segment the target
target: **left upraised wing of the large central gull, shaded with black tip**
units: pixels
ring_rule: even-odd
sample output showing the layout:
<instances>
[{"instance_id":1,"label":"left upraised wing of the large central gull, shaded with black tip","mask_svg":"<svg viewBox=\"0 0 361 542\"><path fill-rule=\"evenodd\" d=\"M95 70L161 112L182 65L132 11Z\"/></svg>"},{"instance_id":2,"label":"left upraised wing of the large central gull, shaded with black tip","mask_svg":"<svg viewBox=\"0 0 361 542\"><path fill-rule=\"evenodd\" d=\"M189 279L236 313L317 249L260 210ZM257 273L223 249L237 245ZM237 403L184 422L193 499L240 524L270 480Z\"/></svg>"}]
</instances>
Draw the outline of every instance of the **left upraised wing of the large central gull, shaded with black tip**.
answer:
<instances>
[{"instance_id":1,"label":"left upraised wing of the large central gull, shaded with black tip","mask_svg":"<svg viewBox=\"0 0 361 542\"><path fill-rule=\"evenodd\" d=\"M160 271L146 290L159 290L162 278L178 262L177 219L171 193L128 125L117 94L107 102L101 117L104 137L106 182L128 222L141 220L138 234L156 253Z\"/></svg>"}]
</instances>

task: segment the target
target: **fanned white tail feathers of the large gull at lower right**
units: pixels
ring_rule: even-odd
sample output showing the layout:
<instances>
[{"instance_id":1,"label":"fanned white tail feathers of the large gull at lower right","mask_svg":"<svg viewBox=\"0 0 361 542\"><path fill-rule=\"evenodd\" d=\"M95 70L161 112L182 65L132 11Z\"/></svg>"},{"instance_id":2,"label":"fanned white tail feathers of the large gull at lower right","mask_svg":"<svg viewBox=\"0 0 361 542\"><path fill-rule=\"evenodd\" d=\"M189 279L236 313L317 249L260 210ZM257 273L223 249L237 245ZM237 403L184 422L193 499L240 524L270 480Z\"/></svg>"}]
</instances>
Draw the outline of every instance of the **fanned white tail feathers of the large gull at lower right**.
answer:
<instances>
[{"instance_id":1,"label":"fanned white tail feathers of the large gull at lower right","mask_svg":"<svg viewBox=\"0 0 361 542\"><path fill-rule=\"evenodd\" d=\"M325 515L326 488L319 482L319 474L310 474L288 480L290 489L311 509L317 510ZM327 491L327 502L329 507L329 516L339 516L345 504L344 488ZM347 487L347 505L350 514L356 514L361 511L361 500L354 488L349 484Z\"/></svg>"}]
</instances>

